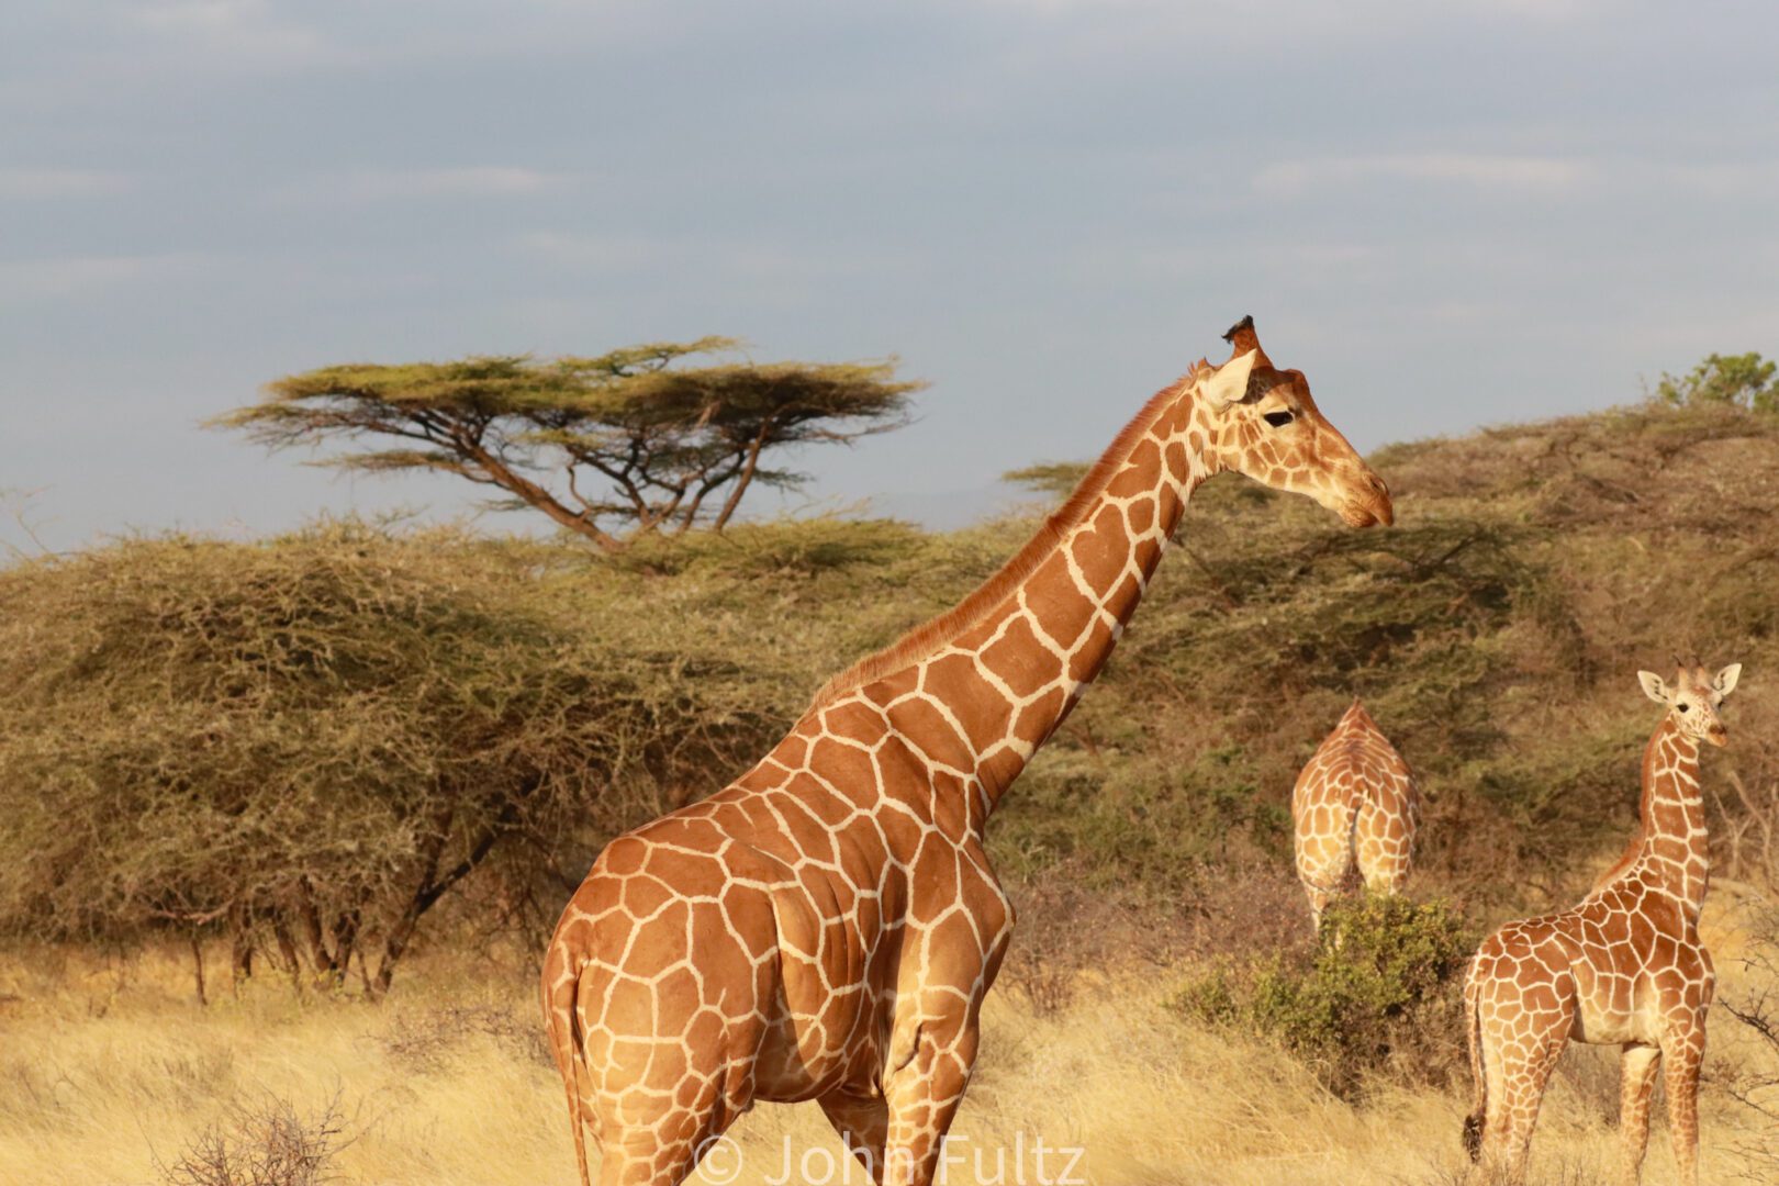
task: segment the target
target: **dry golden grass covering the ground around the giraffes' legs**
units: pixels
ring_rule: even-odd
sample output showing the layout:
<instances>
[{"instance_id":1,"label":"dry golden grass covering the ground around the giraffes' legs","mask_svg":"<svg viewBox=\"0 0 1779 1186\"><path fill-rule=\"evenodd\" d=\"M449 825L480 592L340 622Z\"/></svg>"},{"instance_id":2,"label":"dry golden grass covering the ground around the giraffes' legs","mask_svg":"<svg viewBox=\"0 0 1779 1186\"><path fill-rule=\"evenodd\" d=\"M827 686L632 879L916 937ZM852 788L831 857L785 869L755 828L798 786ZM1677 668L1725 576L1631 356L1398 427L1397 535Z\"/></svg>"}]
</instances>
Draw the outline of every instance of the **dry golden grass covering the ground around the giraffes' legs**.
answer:
<instances>
[{"instance_id":1,"label":"dry golden grass covering the ground around the giraffes' legs","mask_svg":"<svg viewBox=\"0 0 1779 1186\"><path fill-rule=\"evenodd\" d=\"M1726 957L1724 989L1736 992L1749 985L1735 982L1740 962L1727 958L1738 946L1729 910L1727 898L1713 900L1708 939ZM286 1101L313 1117L336 1097L349 1140L327 1165L336 1181L573 1182L560 1088L530 1038L528 978L471 980L423 958L415 971L381 1008L297 1003L274 985L199 1008L173 955L107 966L9 953L0 967L0 1182L160 1182L157 1159L174 1165L244 1101ZM1382 1086L1366 1106L1348 1106L1284 1054L1174 1017L1163 1001L1181 973L1085 973L1048 1012L1018 990L996 992L980 1074L954 1129L962 1163L946 1181L993 1182L993 1150L1010 1156L1021 1133L1034 1182L1039 1136L1083 1147L1092 1182L1466 1181L1457 1136L1466 1097ZM1713 1017L1710 1078L1758 1056L1736 1030L1727 1014ZM1610 1051L1566 1056L1533 1145L1539 1181L1610 1181L1614 1095ZM1749 1134L1745 1110L1715 1083L1703 1106L1706 1181L1747 1181L1758 1166L1735 1150ZM815 1150L817 1181L838 1150L813 1106L761 1106L735 1138L749 1166L738 1182L777 1177L785 1142L799 1158ZM980 1175L977 1150L987 1150ZM1010 1168L1009 1182L1018 1181ZM1048 1161L1053 1179L1060 1168ZM1654 1186L1674 1181L1660 1124L1646 1170Z\"/></svg>"}]
</instances>

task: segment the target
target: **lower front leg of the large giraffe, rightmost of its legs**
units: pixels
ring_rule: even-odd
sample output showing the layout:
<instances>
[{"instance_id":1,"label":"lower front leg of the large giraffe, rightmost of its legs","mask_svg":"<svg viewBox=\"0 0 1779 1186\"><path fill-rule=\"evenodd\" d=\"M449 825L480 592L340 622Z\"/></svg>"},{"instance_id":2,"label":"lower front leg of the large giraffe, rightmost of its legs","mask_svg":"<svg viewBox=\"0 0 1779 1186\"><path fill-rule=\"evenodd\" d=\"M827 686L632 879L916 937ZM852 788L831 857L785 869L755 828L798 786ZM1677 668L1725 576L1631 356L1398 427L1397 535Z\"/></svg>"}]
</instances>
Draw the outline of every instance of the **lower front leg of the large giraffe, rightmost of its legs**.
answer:
<instances>
[{"instance_id":1,"label":"lower front leg of the large giraffe, rightmost of its legs","mask_svg":"<svg viewBox=\"0 0 1779 1186\"><path fill-rule=\"evenodd\" d=\"M922 994L939 1005L923 1008L918 1021L891 1046L897 1058L884 1076L888 1140L881 1179L884 1186L929 1186L945 1150L957 1106L964 1101L977 1062L977 1001L952 992ZM898 1065L897 1065L898 1063Z\"/></svg>"}]
</instances>

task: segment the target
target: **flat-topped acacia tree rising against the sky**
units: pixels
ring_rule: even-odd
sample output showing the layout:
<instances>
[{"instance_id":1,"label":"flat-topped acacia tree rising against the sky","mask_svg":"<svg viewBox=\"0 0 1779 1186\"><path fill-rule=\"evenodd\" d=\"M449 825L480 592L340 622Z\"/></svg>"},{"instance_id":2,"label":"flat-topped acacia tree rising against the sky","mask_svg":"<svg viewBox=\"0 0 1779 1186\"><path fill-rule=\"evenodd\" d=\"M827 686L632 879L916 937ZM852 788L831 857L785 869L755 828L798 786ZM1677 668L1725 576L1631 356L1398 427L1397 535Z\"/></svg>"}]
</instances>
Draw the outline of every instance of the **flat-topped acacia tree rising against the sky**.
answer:
<instances>
[{"instance_id":1,"label":"flat-topped acacia tree rising against the sky","mask_svg":"<svg viewBox=\"0 0 1779 1186\"><path fill-rule=\"evenodd\" d=\"M753 363L738 350L699 338L598 357L324 366L210 423L270 448L366 445L326 464L454 473L616 551L639 533L720 530L754 484L804 482L769 455L898 429L925 386L897 379L895 359Z\"/></svg>"}]
</instances>

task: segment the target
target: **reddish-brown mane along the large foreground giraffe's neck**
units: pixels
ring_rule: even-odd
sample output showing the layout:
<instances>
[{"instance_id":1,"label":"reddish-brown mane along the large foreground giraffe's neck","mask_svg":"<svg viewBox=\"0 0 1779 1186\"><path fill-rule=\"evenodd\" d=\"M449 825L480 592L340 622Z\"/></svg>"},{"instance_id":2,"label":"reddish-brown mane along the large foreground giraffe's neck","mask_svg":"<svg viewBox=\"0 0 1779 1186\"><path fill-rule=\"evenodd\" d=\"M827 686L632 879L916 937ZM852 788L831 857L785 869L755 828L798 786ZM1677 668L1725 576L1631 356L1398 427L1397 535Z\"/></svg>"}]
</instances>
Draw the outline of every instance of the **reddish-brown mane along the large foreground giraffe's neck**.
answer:
<instances>
[{"instance_id":1,"label":"reddish-brown mane along the large foreground giraffe's neck","mask_svg":"<svg viewBox=\"0 0 1779 1186\"><path fill-rule=\"evenodd\" d=\"M833 679L822 685L815 699L809 701L809 708L820 708L829 701L845 695L856 688L863 688L868 683L875 683L884 676L902 670L909 663L927 658L946 642L957 638L966 629L980 622L987 613L1005 601L1025 578L1037 571L1057 544L1060 544L1071 530L1080 526L1089 510L1099 503L1099 496L1105 493L1112 477L1130 457L1130 452L1137 448L1137 441L1142 439L1146 432L1160 420L1167 405L1185 391L1194 379L1206 370L1206 363L1201 359L1194 363L1192 370L1167 384L1160 391L1149 397L1149 402L1142 405L1130 423L1126 423L1112 445L1099 455L1099 461L1082 477L1075 491L1069 494L1067 501L1062 503L1044 525L1025 542L1025 546L1014 553L1007 564L1003 564L993 576L977 585L970 596L959 601L955 606L945 613L916 626L895 642L891 642L882 651L873 651L866 654L852 667L845 669Z\"/></svg>"}]
</instances>

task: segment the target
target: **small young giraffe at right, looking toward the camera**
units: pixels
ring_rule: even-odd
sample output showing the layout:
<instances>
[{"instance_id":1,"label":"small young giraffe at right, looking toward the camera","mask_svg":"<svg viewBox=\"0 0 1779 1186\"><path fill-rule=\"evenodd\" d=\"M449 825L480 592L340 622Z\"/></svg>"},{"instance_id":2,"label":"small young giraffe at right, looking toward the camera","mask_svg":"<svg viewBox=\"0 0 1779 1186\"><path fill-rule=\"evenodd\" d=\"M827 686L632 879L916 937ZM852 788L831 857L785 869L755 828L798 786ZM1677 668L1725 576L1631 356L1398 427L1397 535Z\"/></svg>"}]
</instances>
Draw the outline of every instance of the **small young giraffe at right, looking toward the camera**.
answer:
<instances>
[{"instance_id":1,"label":"small young giraffe at right, looking toward the camera","mask_svg":"<svg viewBox=\"0 0 1779 1186\"><path fill-rule=\"evenodd\" d=\"M1699 741L1724 745L1717 709L1742 665L1717 676L1683 665L1669 686L1637 672L1665 706L1644 750L1642 823L1624 855L1573 910L1509 923L1489 935L1464 982L1477 1108L1464 1122L1471 1158L1521 1181L1544 1081L1569 1040L1621 1044L1622 1181L1635 1186L1649 1143L1656 1065L1667 1078L1669 1129L1683 1186L1697 1181L1699 1060L1715 983L1699 942L1710 875Z\"/></svg>"}]
</instances>

